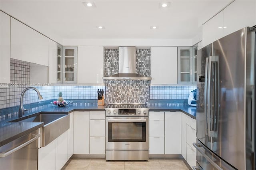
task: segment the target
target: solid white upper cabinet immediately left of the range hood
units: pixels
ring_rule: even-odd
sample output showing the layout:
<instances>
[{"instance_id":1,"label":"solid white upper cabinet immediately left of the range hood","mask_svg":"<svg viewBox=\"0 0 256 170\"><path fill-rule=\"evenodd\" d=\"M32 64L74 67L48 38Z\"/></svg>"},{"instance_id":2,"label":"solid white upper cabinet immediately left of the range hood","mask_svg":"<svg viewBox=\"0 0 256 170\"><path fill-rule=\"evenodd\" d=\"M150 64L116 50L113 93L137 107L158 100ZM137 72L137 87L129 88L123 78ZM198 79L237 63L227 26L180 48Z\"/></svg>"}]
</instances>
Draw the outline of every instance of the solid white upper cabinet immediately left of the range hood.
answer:
<instances>
[{"instance_id":1,"label":"solid white upper cabinet immediately left of the range hood","mask_svg":"<svg viewBox=\"0 0 256 170\"><path fill-rule=\"evenodd\" d=\"M82 46L77 53L77 83L102 84L104 47Z\"/></svg>"}]
</instances>

